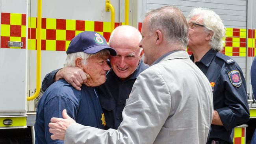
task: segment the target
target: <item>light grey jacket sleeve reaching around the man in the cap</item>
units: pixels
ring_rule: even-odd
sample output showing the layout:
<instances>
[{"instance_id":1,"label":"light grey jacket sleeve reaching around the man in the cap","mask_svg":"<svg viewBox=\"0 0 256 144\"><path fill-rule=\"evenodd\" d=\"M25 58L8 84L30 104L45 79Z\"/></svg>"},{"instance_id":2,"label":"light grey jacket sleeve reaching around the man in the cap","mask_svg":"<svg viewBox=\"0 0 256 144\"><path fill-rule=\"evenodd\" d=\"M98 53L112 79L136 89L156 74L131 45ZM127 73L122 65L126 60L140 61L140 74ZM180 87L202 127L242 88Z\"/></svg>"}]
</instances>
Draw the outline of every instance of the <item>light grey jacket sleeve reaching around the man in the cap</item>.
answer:
<instances>
[{"instance_id":1,"label":"light grey jacket sleeve reaching around the man in the cap","mask_svg":"<svg viewBox=\"0 0 256 144\"><path fill-rule=\"evenodd\" d=\"M167 120L171 95L165 80L156 70L147 69L134 83L117 130L102 130L72 124L65 144L152 144Z\"/></svg>"}]
</instances>

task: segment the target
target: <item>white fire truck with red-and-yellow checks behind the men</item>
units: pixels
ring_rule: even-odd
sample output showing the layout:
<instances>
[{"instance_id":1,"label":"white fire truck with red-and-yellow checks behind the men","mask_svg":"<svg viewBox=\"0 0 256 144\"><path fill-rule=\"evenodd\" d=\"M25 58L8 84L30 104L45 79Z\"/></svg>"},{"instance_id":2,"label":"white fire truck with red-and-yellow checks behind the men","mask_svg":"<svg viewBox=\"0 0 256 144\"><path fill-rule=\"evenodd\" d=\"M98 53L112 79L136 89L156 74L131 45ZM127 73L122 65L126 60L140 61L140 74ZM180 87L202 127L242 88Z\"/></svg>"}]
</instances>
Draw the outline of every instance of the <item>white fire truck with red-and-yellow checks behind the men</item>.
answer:
<instances>
[{"instance_id":1,"label":"white fire truck with red-and-yellow checks behind the men","mask_svg":"<svg viewBox=\"0 0 256 144\"><path fill-rule=\"evenodd\" d=\"M234 129L234 143L250 140L246 131L253 133L256 123L250 85L256 55L255 0L0 0L0 143L34 143L41 82L47 73L63 67L75 35L96 31L108 41L115 27L141 30L145 13L166 5L177 6L185 16L194 7L220 15L226 27L222 53L242 68L250 106L250 121Z\"/></svg>"}]
</instances>

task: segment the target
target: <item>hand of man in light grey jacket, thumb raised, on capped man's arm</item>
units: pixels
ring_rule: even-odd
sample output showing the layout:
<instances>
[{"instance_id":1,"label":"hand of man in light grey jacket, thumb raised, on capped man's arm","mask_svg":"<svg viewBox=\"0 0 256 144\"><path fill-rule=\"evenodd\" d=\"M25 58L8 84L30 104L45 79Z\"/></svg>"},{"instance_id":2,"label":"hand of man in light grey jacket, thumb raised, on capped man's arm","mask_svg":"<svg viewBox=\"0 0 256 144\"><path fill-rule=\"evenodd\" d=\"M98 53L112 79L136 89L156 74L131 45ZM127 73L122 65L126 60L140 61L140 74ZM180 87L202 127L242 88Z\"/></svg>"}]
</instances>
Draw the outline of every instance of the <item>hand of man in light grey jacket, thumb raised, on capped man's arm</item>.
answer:
<instances>
[{"instance_id":1,"label":"hand of man in light grey jacket, thumb raised, on capped man's arm","mask_svg":"<svg viewBox=\"0 0 256 144\"><path fill-rule=\"evenodd\" d=\"M53 135L51 135L52 140L64 140L65 133L70 124L76 122L67 114L67 110L62 111L63 118L51 118L51 122L49 123L49 131Z\"/></svg>"}]
</instances>

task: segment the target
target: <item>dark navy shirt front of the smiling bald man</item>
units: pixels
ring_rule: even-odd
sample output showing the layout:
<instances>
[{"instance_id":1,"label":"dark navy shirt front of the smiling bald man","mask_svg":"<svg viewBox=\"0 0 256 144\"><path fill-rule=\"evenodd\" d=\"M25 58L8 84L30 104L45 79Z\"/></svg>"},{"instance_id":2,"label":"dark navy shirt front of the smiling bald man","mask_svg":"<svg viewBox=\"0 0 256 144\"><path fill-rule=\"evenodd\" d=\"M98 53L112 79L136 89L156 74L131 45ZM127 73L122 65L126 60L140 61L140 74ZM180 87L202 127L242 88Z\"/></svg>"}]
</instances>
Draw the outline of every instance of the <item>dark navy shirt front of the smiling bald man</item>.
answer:
<instances>
[{"instance_id":1,"label":"dark navy shirt front of the smiling bald man","mask_svg":"<svg viewBox=\"0 0 256 144\"><path fill-rule=\"evenodd\" d=\"M125 107L126 99L129 98L135 80L146 68L148 66L141 60L134 73L124 81L111 68L107 74L106 82L96 88L106 118L106 129L117 129L121 124L122 110Z\"/></svg>"}]
</instances>

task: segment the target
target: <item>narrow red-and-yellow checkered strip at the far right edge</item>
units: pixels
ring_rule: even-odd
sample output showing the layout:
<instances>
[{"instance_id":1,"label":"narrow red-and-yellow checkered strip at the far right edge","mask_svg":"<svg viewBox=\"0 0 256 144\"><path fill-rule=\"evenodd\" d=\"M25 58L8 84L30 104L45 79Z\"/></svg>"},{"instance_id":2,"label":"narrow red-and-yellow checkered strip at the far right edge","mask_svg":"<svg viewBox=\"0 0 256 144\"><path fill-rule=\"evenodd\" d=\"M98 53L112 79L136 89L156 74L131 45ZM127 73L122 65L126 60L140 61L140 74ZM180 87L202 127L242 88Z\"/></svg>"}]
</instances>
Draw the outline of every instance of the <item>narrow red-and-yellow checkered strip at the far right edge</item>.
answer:
<instances>
[{"instance_id":1,"label":"narrow red-and-yellow checkered strip at the far right edge","mask_svg":"<svg viewBox=\"0 0 256 144\"><path fill-rule=\"evenodd\" d=\"M254 57L256 55L256 41L255 41L255 35L256 35L256 30L248 30L248 56L249 57Z\"/></svg>"}]
</instances>

